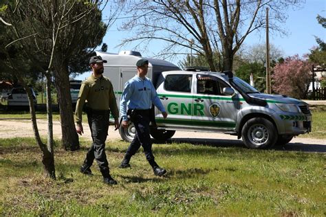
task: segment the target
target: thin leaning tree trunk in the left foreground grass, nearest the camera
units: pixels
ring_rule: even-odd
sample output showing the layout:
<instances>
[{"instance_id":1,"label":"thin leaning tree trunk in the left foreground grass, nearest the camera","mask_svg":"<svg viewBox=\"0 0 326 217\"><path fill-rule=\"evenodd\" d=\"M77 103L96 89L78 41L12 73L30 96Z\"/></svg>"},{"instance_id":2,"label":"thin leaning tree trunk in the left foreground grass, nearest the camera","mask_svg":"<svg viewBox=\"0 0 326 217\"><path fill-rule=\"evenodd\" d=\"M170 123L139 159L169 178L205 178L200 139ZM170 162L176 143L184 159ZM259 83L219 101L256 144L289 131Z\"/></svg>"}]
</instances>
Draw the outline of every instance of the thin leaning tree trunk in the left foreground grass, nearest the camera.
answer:
<instances>
[{"instance_id":1,"label":"thin leaning tree trunk in the left foreground grass, nearest the camera","mask_svg":"<svg viewBox=\"0 0 326 217\"><path fill-rule=\"evenodd\" d=\"M34 101L33 101L33 96L32 96L32 91L30 90L30 87L23 82L23 80L19 81L23 87L26 90L26 93L28 93L28 101L30 104L30 115L31 115L31 120L32 120L32 127L34 131L34 137L36 139L36 144L39 145L42 151L42 163L43 163L43 168L44 168L44 173L45 176L50 177L51 179L56 179L56 172L54 168L54 150L53 150L53 139L50 142L50 144L47 144L50 146L48 149L45 144L42 143L41 137L39 135L39 129L37 127L37 122L36 122L36 114L35 114L35 109L34 109ZM49 98L49 94L47 94L47 98ZM51 99L51 96L50 96ZM52 114L50 115L51 119L50 121L52 122Z\"/></svg>"}]
</instances>

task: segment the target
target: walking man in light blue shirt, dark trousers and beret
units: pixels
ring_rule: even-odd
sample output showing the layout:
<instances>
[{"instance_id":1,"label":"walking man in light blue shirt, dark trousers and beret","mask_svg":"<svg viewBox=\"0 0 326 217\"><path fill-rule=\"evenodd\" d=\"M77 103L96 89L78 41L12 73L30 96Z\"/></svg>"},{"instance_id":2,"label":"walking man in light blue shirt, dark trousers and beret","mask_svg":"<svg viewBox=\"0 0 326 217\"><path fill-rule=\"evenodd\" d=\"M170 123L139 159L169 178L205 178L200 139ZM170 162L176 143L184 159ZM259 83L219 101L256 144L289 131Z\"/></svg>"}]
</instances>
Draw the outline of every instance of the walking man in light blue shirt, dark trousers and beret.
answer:
<instances>
[{"instance_id":1,"label":"walking man in light blue shirt, dark trousers and beret","mask_svg":"<svg viewBox=\"0 0 326 217\"><path fill-rule=\"evenodd\" d=\"M129 148L127 149L120 168L129 168L129 161L135 152L142 146L147 161L152 166L154 174L162 176L166 170L160 168L154 160L152 152L151 136L149 135L149 122L151 121L151 106L154 104L162 112L164 119L168 116L160 98L157 97L155 87L151 80L146 78L149 61L140 59L136 63L137 75L124 84L124 91L120 100L120 114L122 127L128 127L128 118L135 125L136 134ZM128 105L128 110L127 110Z\"/></svg>"}]
</instances>

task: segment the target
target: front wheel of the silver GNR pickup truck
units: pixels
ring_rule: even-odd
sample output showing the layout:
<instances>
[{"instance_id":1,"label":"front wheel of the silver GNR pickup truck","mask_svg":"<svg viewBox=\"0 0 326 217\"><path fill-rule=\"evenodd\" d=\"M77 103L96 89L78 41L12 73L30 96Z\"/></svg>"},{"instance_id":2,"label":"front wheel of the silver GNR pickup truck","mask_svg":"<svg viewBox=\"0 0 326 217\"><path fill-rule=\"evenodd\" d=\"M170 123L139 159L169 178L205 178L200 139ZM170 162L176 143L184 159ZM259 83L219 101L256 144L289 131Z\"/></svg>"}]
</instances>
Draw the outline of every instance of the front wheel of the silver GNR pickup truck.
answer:
<instances>
[{"instance_id":1,"label":"front wheel of the silver GNR pickup truck","mask_svg":"<svg viewBox=\"0 0 326 217\"><path fill-rule=\"evenodd\" d=\"M248 148L271 148L277 140L274 124L263 117L249 119L241 131L244 144Z\"/></svg>"}]
</instances>

